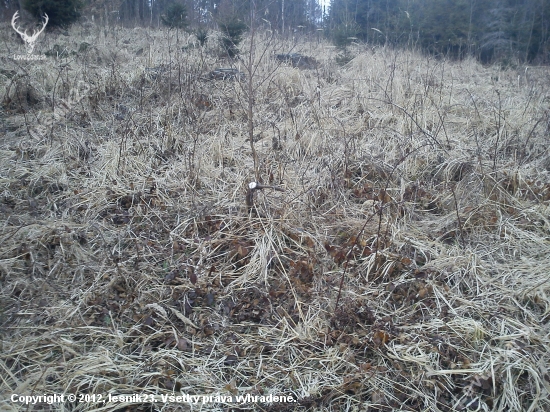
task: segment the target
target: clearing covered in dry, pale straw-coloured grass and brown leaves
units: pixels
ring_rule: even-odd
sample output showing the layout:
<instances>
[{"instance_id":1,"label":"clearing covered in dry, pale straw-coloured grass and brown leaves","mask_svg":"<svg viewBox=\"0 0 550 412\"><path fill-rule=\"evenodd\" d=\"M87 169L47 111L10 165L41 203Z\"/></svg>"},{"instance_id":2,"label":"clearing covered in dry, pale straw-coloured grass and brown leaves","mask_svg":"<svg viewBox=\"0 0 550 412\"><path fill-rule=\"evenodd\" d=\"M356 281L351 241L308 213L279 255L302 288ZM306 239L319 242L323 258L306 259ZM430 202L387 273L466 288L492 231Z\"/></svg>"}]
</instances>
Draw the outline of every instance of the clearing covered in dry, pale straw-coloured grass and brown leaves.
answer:
<instances>
[{"instance_id":1,"label":"clearing covered in dry, pale straw-coloured grass and brown leaves","mask_svg":"<svg viewBox=\"0 0 550 412\"><path fill-rule=\"evenodd\" d=\"M547 68L0 34L0 409L550 409Z\"/></svg>"}]
</instances>

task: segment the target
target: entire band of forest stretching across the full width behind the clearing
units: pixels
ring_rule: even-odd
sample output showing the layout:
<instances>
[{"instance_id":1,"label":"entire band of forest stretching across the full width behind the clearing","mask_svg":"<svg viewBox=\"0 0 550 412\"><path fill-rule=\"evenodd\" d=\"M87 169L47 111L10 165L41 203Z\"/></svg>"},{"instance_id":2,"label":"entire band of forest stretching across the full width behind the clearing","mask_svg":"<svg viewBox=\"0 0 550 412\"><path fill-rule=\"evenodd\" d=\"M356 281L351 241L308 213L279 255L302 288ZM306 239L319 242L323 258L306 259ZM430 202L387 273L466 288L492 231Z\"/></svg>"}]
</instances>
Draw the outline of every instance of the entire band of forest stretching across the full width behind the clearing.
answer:
<instances>
[{"instance_id":1,"label":"entire band of forest stretching across the full width behind the clearing","mask_svg":"<svg viewBox=\"0 0 550 412\"><path fill-rule=\"evenodd\" d=\"M550 0L332 0L323 12L318 0L0 1L4 21L29 4L38 12L42 5L79 4L85 19L126 27L159 27L178 4L185 9L186 27L205 30L235 19L249 23L253 8L258 24L283 34L323 28L341 48L357 39L457 59L474 56L484 63L550 61Z\"/></svg>"}]
</instances>

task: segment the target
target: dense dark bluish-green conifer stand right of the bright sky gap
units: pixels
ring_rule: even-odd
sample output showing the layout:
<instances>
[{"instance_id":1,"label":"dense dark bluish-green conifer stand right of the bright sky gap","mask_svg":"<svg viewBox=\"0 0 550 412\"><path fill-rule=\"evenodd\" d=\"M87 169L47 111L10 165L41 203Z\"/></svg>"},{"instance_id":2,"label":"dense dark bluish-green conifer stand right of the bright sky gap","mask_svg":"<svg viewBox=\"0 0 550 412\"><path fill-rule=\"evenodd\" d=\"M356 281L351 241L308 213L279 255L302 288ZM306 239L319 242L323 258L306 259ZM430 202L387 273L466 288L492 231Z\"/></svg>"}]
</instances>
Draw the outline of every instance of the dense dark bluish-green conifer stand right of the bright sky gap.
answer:
<instances>
[{"instance_id":1,"label":"dense dark bluish-green conifer stand right of the bright sky gap","mask_svg":"<svg viewBox=\"0 0 550 412\"><path fill-rule=\"evenodd\" d=\"M325 19L337 45L417 47L485 63L548 63L549 0L333 0Z\"/></svg>"}]
</instances>

